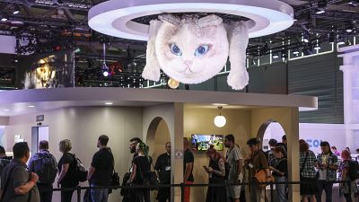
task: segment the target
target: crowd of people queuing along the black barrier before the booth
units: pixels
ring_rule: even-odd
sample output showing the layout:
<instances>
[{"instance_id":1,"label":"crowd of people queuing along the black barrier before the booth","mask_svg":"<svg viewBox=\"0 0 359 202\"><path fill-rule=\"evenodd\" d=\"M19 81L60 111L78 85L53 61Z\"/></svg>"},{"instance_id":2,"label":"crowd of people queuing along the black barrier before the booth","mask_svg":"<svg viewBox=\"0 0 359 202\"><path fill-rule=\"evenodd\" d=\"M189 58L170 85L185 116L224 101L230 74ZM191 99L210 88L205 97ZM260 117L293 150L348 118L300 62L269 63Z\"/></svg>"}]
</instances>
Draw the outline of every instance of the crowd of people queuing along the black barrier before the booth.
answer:
<instances>
[{"instance_id":1,"label":"crowd of people queuing along the black barrier before the booth","mask_svg":"<svg viewBox=\"0 0 359 202\"><path fill-rule=\"evenodd\" d=\"M111 186L114 174L115 161L108 146L109 137L99 136L97 147L93 154L91 166L85 180L90 187ZM288 201L287 143L286 136L282 142L270 139L270 149L261 150L258 138L250 138L247 145L250 154L246 157L241 148L235 143L233 135L224 136L224 146L227 148L225 156L215 150L214 146L206 151L208 166L203 166L208 173L210 184L225 184L228 186L209 186L206 193L206 202L243 202L246 194L250 202L265 202L266 186L259 181L275 180L276 201ZM149 155L149 146L138 137L129 140L129 150L133 159L123 185L152 185L153 178L160 184L171 184L171 142L164 145L165 153L160 154L153 163ZM183 138L183 182L186 185L194 183L195 156L192 153L187 138ZM350 183L340 183L340 191L346 202L352 202L359 191L353 174L354 160L348 149L339 153L336 146L328 142L320 143L321 153L315 155L305 140L299 141L299 165L301 176L302 201L321 201L322 192L325 192L326 202L332 201L332 188L336 180L349 180ZM62 153L60 160L48 152L48 141L39 142L39 153L30 156L29 145L26 142L13 145L13 160L7 157L4 147L0 146L0 173L2 202L51 202L53 183L57 178L57 187L61 190L61 202L71 202L74 188L79 185L77 173L79 160L71 152L71 141L66 139L59 143ZM359 153L359 151L357 150ZM340 155L340 158L338 158ZM28 162L28 165L26 164ZM245 170L248 174L245 175ZM154 172L156 171L156 172ZM154 172L154 174L153 174ZM339 178L337 179L337 172ZM356 171L357 172L357 171ZM154 177L153 177L154 176ZM158 179L157 179L158 176ZM246 179L245 179L246 178ZM240 184L250 182L250 191L244 192ZM190 201L190 186L184 189L184 201ZM151 189L122 189L123 202L150 202ZM350 193L352 195L350 195ZM109 189L96 188L90 190L91 202L107 202ZM159 202L171 201L171 188L160 187L156 198Z\"/></svg>"}]
</instances>

